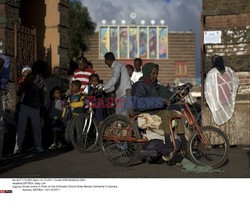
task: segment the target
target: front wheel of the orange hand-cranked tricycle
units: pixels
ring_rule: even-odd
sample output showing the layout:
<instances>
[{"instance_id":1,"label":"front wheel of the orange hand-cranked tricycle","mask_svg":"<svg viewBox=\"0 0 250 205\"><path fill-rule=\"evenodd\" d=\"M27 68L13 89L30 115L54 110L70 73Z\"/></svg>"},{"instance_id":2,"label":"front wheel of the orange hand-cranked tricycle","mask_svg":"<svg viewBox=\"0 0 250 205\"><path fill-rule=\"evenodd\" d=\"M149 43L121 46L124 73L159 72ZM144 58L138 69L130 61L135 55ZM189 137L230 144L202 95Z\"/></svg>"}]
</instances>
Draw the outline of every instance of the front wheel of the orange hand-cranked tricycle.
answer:
<instances>
[{"instance_id":1,"label":"front wheel of the orange hand-cranked tricycle","mask_svg":"<svg viewBox=\"0 0 250 205\"><path fill-rule=\"evenodd\" d=\"M222 166L228 158L229 141L224 132L216 127L201 127L201 132L206 138L206 146L196 131L187 144L190 160L198 165L209 165L213 168Z\"/></svg>"}]
</instances>

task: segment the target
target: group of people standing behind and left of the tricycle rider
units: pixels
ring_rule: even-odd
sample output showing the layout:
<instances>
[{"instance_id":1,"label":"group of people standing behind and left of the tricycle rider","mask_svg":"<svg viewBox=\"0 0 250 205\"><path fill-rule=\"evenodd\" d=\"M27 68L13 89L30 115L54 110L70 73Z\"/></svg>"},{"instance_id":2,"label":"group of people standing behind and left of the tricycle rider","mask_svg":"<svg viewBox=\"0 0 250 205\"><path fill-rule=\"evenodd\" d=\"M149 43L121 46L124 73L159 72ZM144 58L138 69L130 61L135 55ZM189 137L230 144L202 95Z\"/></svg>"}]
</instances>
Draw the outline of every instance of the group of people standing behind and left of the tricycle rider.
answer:
<instances>
[{"instance_id":1,"label":"group of people standing behind and left of the tricycle rider","mask_svg":"<svg viewBox=\"0 0 250 205\"><path fill-rule=\"evenodd\" d=\"M8 58L1 56L0 59L1 67L3 67ZM77 63L70 63L66 85L61 79L60 67L54 67L52 75L47 77L44 76L45 66L42 61L35 62L32 67L27 65L22 67L21 76L17 81L17 134L14 153L19 154L25 151L23 143L27 129L33 132L34 147L37 152L44 152L44 137L50 138L47 140L51 142L48 149L63 147L65 141L70 141L67 129L72 119L86 111L88 96L95 96L97 99L110 97L112 102L109 108L113 111L111 113L128 115L126 99L127 96L131 96L132 85L143 76L142 60L136 58L134 65L125 66L115 59L113 53L109 52L105 55L105 63L112 71L112 78L105 86L92 63L84 56L79 57ZM1 86L6 83L2 82ZM115 106L117 102L120 106ZM107 108L101 106L94 109L95 118L100 124L110 113L105 109Z\"/></svg>"}]
</instances>

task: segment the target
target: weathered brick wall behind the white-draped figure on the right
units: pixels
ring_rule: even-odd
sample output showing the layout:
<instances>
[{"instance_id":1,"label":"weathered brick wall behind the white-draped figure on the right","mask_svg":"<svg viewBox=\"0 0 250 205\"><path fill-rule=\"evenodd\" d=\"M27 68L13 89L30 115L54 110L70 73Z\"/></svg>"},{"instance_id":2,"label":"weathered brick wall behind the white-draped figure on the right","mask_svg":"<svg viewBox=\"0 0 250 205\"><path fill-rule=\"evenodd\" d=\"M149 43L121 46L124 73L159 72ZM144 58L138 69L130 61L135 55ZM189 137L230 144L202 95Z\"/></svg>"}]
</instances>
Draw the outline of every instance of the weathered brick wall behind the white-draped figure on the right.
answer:
<instances>
[{"instance_id":1,"label":"weathered brick wall behind the white-draped figure on the right","mask_svg":"<svg viewBox=\"0 0 250 205\"><path fill-rule=\"evenodd\" d=\"M214 54L237 72L240 86L232 119L220 126L234 145L250 144L250 1L203 0L203 31L221 31L221 44L203 44L203 76L211 68ZM203 41L203 38L202 38ZM212 124L212 116L203 101L203 123Z\"/></svg>"}]
</instances>

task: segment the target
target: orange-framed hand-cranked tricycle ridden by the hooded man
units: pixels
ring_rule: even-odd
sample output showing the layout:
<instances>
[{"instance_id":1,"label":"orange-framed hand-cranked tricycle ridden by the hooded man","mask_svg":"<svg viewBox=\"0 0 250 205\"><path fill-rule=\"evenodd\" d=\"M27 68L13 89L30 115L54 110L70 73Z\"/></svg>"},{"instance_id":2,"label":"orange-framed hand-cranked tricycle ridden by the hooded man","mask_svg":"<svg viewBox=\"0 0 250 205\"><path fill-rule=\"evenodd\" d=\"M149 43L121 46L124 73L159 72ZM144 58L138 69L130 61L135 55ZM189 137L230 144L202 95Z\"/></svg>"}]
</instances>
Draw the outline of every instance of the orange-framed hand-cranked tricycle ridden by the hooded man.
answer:
<instances>
[{"instance_id":1,"label":"orange-framed hand-cranked tricycle ridden by the hooded man","mask_svg":"<svg viewBox=\"0 0 250 205\"><path fill-rule=\"evenodd\" d=\"M185 96L189 95L191 85L179 88L172 97L183 103L181 114L169 119L170 138L173 144L172 155L177 153L172 122L185 119L189 130L193 130L187 143L187 157L197 165L209 165L214 168L222 166L228 157L229 140L224 132L212 126L200 126L188 106ZM99 143L106 158L115 165L130 166L140 155L142 144L148 140L140 134L135 116L112 115L108 117L101 129ZM184 153L184 152L183 152Z\"/></svg>"}]
</instances>

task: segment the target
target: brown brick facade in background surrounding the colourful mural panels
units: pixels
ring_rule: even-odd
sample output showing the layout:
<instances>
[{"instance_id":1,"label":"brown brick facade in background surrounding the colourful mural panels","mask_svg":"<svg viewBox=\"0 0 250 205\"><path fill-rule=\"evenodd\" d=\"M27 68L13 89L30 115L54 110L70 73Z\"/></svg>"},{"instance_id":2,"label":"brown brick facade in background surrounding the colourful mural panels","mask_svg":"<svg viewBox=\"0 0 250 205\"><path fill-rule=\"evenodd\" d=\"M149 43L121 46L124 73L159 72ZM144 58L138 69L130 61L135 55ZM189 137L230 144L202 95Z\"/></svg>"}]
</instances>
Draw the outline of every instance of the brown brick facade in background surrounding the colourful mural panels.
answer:
<instances>
[{"instance_id":1,"label":"brown brick facade in background surrounding the colourful mural panels","mask_svg":"<svg viewBox=\"0 0 250 205\"><path fill-rule=\"evenodd\" d=\"M195 34L193 32L169 32L169 58L165 60L143 59L155 62L160 66L159 81L161 84L172 84L174 81L191 82L195 84ZM99 34L90 38L89 51L84 54L94 65L95 71L104 83L111 78L111 70L99 59ZM133 59L120 60L124 64L132 64ZM179 67L183 68L182 71Z\"/></svg>"}]
</instances>

